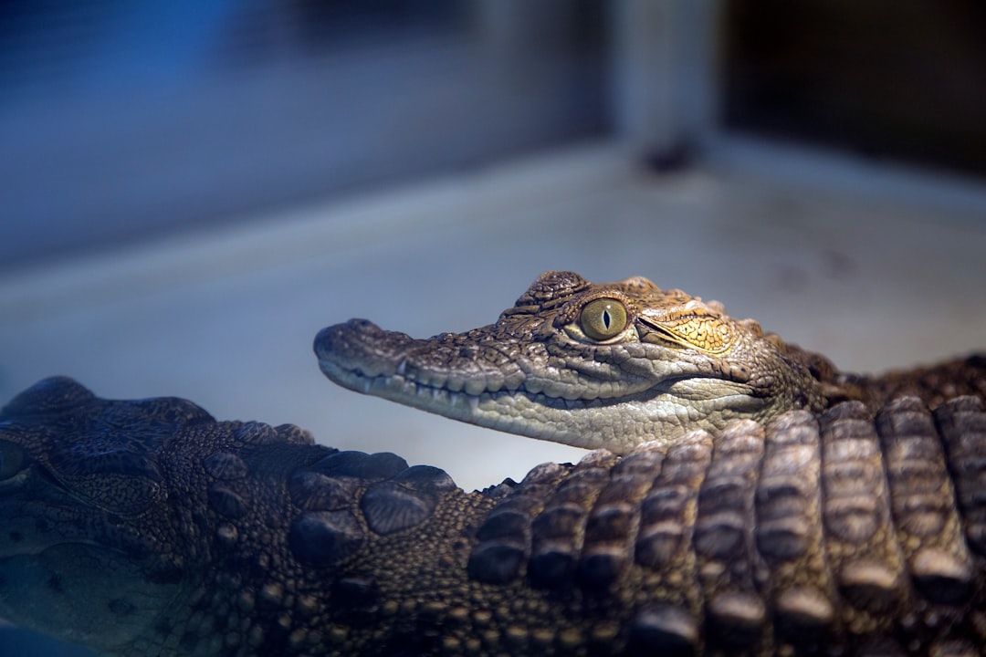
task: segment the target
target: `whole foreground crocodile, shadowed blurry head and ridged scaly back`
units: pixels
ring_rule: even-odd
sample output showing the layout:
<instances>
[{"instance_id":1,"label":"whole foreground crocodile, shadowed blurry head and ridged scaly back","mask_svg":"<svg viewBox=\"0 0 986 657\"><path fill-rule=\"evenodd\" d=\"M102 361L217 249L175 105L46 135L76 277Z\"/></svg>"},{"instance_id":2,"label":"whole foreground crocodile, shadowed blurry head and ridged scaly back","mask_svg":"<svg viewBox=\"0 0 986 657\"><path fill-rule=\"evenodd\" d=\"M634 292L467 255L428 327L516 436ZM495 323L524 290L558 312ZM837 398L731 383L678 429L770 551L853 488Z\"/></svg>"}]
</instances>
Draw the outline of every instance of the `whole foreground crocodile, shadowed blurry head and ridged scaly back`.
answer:
<instances>
[{"instance_id":1,"label":"whole foreground crocodile, shadowed blurry head and ridged scaly back","mask_svg":"<svg viewBox=\"0 0 986 657\"><path fill-rule=\"evenodd\" d=\"M0 616L114 655L974 655L986 410L688 432L464 493L47 379L0 413Z\"/></svg>"}]
</instances>

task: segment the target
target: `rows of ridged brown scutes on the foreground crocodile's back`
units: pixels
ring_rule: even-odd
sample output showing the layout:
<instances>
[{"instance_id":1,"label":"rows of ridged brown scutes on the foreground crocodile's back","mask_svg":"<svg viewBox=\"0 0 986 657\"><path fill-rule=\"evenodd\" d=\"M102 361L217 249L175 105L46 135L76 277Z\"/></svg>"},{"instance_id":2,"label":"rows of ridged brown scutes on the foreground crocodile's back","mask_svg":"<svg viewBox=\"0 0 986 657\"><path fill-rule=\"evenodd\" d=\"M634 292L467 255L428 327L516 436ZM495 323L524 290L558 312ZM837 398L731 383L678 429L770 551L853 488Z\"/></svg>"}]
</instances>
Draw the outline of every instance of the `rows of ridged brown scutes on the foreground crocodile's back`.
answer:
<instances>
[{"instance_id":1,"label":"rows of ridged brown scutes on the foreground crocodile's back","mask_svg":"<svg viewBox=\"0 0 986 657\"><path fill-rule=\"evenodd\" d=\"M600 450L500 501L469 574L580 600L603 652L979 654L983 455L976 397Z\"/></svg>"}]
</instances>

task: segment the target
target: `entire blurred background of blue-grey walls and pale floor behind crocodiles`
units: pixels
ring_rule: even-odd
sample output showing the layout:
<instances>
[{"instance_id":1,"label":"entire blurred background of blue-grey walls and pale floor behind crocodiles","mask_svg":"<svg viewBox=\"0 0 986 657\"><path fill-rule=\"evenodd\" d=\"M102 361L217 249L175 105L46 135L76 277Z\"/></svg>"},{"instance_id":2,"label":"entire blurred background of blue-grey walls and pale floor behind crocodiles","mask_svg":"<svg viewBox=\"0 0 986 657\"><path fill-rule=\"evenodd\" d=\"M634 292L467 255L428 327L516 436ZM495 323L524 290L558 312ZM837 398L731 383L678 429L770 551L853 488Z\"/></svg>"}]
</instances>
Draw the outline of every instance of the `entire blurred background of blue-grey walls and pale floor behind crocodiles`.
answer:
<instances>
[{"instance_id":1,"label":"entire blurred background of blue-grey walls and pale floor behind crocodiles","mask_svg":"<svg viewBox=\"0 0 986 657\"><path fill-rule=\"evenodd\" d=\"M580 451L336 389L319 328L573 269L847 369L984 351L984 79L971 0L0 3L0 400L68 374L473 489ZM37 640L0 654L83 654Z\"/></svg>"}]
</instances>

